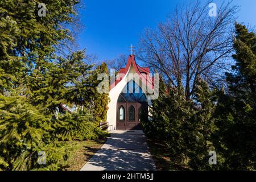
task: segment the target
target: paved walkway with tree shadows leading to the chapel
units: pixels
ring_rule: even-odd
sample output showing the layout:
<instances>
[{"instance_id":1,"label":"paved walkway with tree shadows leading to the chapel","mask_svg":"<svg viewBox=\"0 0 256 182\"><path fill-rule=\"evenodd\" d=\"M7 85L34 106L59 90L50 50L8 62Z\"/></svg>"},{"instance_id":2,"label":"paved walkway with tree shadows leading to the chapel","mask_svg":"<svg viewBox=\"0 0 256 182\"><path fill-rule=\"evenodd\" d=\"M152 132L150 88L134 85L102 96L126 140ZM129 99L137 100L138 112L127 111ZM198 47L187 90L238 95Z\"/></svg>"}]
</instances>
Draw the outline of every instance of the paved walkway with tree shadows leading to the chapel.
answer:
<instances>
[{"instance_id":1,"label":"paved walkway with tree shadows leading to the chapel","mask_svg":"<svg viewBox=\"0 0 256 182\"><path fill-rule=\"evenodd\" d=\"M81 171L155 170L146 137L141 130L115 130Z\"/></svg>"}]
</instances>

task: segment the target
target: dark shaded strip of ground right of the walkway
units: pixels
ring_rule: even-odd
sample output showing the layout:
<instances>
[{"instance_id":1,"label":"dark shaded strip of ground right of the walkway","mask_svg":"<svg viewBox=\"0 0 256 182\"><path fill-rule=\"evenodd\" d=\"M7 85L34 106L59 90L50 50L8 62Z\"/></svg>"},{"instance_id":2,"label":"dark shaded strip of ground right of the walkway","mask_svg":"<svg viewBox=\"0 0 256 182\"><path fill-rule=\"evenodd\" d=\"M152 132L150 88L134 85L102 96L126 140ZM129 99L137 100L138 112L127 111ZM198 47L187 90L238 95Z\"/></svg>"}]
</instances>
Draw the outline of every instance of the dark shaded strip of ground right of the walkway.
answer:
<instances>
[{"instance_id":1,"label":"dark shaded strip of ground right of the walkway","mask_svg":"<svg viewBox=\"0 0 256 182\"><path fill-rule=\"evenodd\" d=\"M163 142L147 139L147 145L150 148L150 153L155 161L155 166L158 171L188 170L187 167L172 162L169 155L170 151L168 151Z\"/></svg>"}]
</instances>

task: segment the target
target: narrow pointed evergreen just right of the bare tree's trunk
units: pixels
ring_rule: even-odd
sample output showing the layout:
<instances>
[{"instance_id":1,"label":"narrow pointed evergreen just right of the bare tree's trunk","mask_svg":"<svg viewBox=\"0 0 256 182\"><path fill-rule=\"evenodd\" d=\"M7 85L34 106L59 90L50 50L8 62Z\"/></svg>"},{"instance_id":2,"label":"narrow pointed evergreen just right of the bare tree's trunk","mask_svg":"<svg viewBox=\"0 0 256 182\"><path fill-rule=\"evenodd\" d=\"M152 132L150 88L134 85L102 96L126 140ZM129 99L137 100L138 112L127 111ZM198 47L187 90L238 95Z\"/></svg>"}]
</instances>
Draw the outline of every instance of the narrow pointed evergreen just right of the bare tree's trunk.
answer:
<instances>
[{"instance_id":1,"label":"narrow pointed evergreen just right of the bare tree's trunk","mask_svg":"<svg viewBox=\"0 0 256 182\"><path fill-rule=\"evenodd\" d=\"M189 167L197 170L210 169L208 163L209 151L214 150L210 137L214 131L213 113L215 106L214 92L209 89L206 81L197 77L195 85L195 97L191 107L191 118L187 119L188 129L188 158Z\"/></svg>"}]
</instances>

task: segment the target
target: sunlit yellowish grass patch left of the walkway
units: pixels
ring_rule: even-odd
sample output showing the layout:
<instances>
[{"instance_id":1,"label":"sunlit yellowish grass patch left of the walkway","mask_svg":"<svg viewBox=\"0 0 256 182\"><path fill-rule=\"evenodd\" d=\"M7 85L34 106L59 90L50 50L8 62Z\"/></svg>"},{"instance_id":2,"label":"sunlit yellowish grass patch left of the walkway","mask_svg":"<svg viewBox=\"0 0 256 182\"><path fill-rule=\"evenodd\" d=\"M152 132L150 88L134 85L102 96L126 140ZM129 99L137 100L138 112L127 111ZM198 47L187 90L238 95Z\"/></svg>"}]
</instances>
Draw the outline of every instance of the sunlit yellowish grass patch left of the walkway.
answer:
<instances>
[{"instance_id":1,"label":"sunlit yellowish grass patch left of the walkway","mask_svg":"<svg viewBox=\"0 0 256 182\"><path fill-rule=\"evenodd\" d=\"M63 166L65 166L63 170L79 171L105 142L106 139L65 142L67 147L72 148L72 151L68 155L68 159L63 162Z\"/></svg>"}]
</instances>

